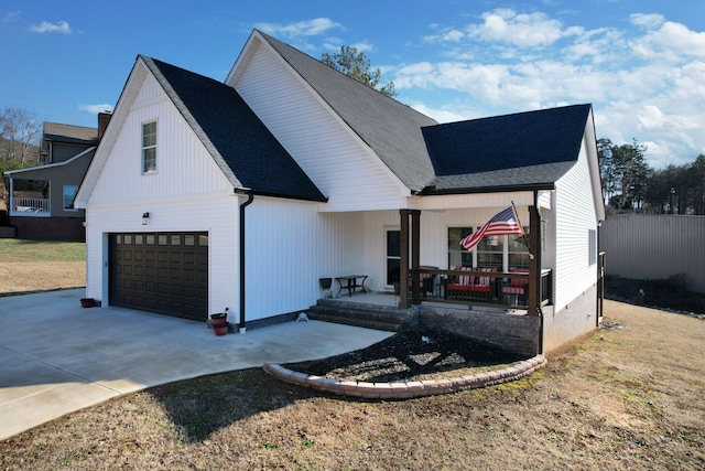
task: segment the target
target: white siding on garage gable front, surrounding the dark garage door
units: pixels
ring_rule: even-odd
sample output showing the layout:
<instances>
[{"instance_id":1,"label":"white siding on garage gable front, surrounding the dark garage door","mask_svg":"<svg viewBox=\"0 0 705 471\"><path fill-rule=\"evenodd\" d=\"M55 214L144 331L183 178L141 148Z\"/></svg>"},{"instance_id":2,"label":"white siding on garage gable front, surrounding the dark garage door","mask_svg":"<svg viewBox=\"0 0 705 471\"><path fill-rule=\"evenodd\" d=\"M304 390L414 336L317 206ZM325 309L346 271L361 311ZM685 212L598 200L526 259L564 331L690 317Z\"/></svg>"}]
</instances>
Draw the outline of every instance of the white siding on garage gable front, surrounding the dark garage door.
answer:
<instances>
[{"instance_id":1,"label":"white siding on garage gable front, surrounding the dark garage door","mask_svg":"<svg viewBox=\"0 0 705 471\"><path fill-rule=\"evenodd\" d=\"M142 124L151 120L156 120L156 171L144 174ZM209 283L209 309L237 304L237 289L230 285L238 272L239 199L151 75L104 157L105 168L86 205L87 296L107 303L108 234L193 231L209 234L209 279L229 280ZM150 213L147 225L143 213Z\"/></svg>"}]
</instances>

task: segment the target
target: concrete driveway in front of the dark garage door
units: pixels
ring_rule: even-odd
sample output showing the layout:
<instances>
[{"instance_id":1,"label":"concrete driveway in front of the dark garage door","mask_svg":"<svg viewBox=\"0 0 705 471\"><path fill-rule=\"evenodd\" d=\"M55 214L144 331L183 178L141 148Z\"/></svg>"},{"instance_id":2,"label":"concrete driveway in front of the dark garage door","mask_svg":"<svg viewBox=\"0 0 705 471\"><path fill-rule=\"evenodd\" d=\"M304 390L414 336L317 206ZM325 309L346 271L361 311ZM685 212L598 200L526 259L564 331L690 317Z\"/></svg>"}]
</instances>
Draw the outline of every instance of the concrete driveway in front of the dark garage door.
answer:
<instances>
[{"instance_id":1,"label":"concrete driveway in front of the dark garage door","mask_svg":"<svg viewBox=\"0 0 705 471\"><path fill-rule=\"evenodd\" d=\"M80 307L84 289L0 298L0 439L174 381L297 362L390 335L318 321L216 336L204 323Z\"/></svg>"}]
</instances>

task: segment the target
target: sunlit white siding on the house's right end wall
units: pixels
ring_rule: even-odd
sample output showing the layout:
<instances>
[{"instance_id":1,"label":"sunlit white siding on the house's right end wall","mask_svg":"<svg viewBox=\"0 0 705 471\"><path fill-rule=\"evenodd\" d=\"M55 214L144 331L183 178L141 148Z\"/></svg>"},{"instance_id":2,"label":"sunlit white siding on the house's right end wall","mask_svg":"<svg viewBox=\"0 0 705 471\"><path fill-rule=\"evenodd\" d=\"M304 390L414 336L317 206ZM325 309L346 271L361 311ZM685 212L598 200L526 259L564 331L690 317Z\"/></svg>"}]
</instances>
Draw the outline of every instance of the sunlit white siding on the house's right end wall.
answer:
<instances>
[{"instance_id":1,"label":"sunlit white siding on the house's right end wall","mask_svg":"<svg viewBox=\"0 0 705 471\"><path fill-rule=\"evenodd\" d=\"M556 182L555 272L556 311L581 296L597 280L597 265L590 265L589 238L597 247L597 213L592 193L585 144L576 164ZM590 232L592 231L592 232Z\"/></svg>"}]
</instances>

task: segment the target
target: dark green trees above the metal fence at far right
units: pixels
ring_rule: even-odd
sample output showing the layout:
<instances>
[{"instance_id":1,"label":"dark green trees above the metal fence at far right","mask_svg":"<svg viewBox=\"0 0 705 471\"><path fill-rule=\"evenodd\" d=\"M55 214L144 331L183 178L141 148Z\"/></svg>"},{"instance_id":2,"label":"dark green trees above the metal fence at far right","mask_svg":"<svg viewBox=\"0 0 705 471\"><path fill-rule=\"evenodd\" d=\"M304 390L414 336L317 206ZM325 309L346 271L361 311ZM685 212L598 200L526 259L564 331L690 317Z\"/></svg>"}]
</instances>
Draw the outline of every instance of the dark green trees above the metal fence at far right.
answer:
<instances>
[{"instance_id":1,"label":"dark green trees above the metal fence at far right","mask_svg":"<svg viewBox=\"0 0 705 471\"><path fill-rule=\"evenodd\" d=\"M617 211L705 215L705 154L682 165L651 168L637 140L597 140L604 201Z\"/></svg>"}]
</instances>

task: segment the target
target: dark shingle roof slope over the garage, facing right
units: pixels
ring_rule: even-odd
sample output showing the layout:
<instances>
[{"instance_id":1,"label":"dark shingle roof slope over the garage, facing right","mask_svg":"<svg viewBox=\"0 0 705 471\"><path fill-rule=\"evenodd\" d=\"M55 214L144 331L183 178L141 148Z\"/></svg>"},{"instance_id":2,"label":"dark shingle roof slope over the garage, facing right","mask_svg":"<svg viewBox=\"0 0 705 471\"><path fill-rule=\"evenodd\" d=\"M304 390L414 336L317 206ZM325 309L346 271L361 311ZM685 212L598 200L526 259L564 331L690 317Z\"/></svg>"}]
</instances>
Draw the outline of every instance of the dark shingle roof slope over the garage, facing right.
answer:
<instances>
[{"instance_id":1,"label":"dark shingle roof slope over the garage, facing right","mask_svg":"<svg viewBox=\"0 0 705 471\"><path fill-rule=\"evenodd\" d=\"M232 87L140 57L235 185L259 194L326 201Z\"/></svg>"}]
</instances>

